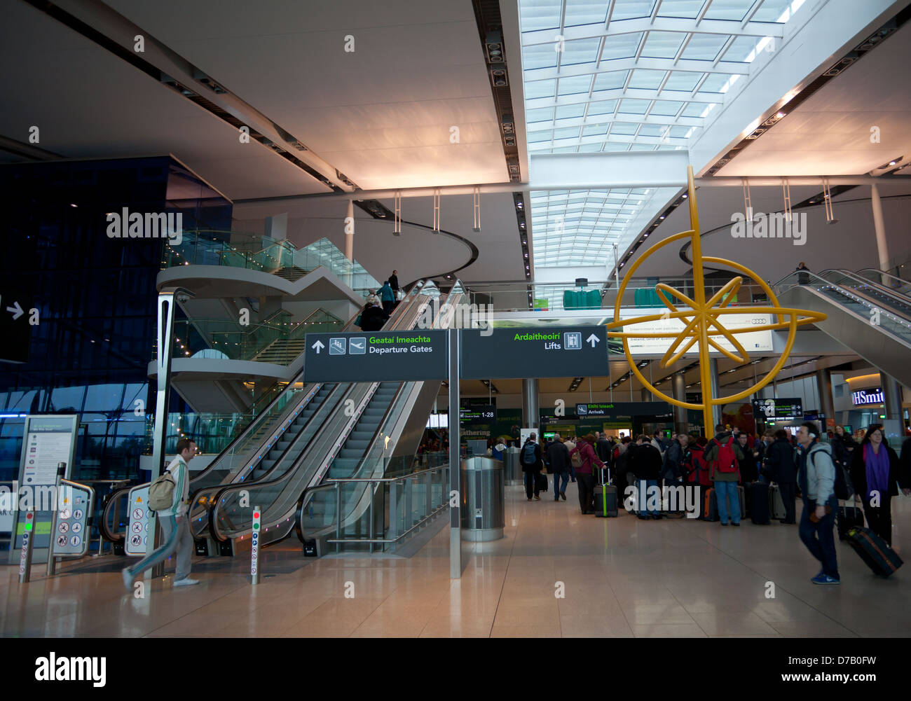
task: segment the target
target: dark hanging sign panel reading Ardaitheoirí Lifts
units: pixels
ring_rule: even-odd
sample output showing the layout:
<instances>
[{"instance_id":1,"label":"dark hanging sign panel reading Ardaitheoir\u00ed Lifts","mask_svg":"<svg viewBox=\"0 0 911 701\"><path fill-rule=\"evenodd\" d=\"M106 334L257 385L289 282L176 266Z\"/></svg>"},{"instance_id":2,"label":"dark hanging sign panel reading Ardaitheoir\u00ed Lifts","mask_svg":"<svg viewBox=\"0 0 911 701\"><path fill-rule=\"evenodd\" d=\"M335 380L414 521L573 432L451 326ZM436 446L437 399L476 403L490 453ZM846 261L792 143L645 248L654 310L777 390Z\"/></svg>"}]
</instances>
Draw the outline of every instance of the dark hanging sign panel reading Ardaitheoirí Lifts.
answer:
<instances>
[{"instance_id":1,"label":"dark hanging sign panel reading Ardaitheoir\u00ed Lifts","mask_svg":"<svg viewBox=\"0 0 911 701\"><path fill-rule=\"evenodd\" d=\"M603 326L462 331L466 380L607 374L608 333Z\"/></svg>"}]
</instances>

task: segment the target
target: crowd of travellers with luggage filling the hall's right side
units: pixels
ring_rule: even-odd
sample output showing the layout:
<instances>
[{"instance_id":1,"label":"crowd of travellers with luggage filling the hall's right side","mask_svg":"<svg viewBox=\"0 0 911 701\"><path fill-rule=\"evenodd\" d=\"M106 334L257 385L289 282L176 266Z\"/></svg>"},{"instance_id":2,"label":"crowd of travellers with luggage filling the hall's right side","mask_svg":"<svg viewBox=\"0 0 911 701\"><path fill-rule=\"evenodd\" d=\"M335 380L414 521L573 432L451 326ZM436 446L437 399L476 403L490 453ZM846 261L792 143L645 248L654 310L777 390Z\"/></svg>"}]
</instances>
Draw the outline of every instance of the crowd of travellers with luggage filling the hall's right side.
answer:
<instances>
[{"instance_id":1,"label":"crowd of travellers with luggage filling the hall's right side","mask_svg":"<svg viewBox=\"0 0 911 701\"><path fill-rule=\"evenodd\" d=\"M803 501L797 530L821 565L811 581L839 584L834 525L839 509L845 507L838 491L844 492L841 501L863 504L867 526L891 546L892 497L899 489L911 496L911 438L899 456L885 442L880 425L858 435L859 441L842 426L828 434L829 442L822 442L822 435L815 422L804 422L795 434L778 429L763 436L720 424L711 439L658 431L635 441L599 432L566 438L557 433L546 441L532 433L519 450L519 462L529 502L540 501L543 472L553 476L555 501L566 501L568 483L578 483L583 514L594 510L596 484L612 484L620 495L635 485L639 502L631 511L642 520L662 518L660 505L647 495L663 483L699 487L700 493L714 489L720 525L739 526L744 515L739 485L773 484L783 506L777 515L781 523L797 524L796 501ZM496 447L501 454L506 449L502 442Z\"/></svg>"}]
</instances>

